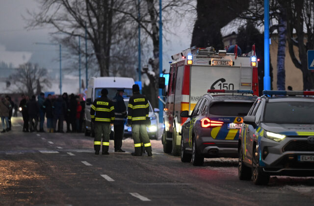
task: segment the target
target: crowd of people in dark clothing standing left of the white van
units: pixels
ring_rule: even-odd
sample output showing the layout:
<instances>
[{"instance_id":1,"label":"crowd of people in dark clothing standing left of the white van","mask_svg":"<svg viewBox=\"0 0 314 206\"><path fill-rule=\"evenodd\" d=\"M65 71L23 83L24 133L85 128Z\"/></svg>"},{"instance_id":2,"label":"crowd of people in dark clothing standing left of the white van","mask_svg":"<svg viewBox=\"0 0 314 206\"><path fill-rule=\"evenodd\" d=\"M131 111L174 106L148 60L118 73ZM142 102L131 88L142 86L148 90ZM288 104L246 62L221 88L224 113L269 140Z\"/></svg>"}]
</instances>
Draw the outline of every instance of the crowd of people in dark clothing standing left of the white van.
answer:
<instances>
[{"instance_id":1,"label":"crowd of people in dark clothing standing left of the white van","mask_svg":"<svg viewBox=\"0 0 314 206\"><path fill-rule=\"evenodd\" d=\"M82 132L84 119L85 101L81 95L67 93L55 96L40 93L37 97L33 95L30 99L27 95L22 95L20 110L23 116L24 132L45 132L44 122L47 118L48 132L63 133L63 122L66 122L66 132ZM39 128L38 128L39 122ZM3 123L2 123L3 125Z\"/></svg>"}]
</instances>

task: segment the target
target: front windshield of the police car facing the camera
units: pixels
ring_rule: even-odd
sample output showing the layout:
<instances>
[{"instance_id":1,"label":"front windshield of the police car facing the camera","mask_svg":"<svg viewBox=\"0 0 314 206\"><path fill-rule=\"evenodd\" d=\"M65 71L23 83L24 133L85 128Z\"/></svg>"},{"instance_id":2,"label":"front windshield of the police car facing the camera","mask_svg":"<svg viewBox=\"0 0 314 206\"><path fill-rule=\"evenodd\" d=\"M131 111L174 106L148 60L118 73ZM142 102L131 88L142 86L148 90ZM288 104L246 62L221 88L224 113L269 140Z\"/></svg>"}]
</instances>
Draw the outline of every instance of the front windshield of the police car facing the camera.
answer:
<instances>
[{"instance_id":1,"label":"front windshield of the police car facing the camera","mask_svg":"<svg viewBox=\"0 0 314 206\"><path fill-rule=\"evenodd\" d=\"M314 102L267 103L264 122L278 124L314 124Z\"/></svg>"}]
</instances>

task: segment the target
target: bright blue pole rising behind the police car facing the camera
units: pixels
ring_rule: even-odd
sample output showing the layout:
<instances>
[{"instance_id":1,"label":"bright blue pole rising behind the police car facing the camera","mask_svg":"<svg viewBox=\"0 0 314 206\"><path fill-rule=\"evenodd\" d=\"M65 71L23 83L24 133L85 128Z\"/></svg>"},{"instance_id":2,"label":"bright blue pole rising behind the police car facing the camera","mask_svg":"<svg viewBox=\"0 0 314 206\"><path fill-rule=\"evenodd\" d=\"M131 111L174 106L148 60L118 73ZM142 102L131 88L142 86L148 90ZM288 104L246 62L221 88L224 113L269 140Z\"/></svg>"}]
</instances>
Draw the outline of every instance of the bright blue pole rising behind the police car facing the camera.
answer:
<instances>
[{"instance_id":1,"label":"bright blue pole rising behind the police car facing the camera","mask_svg":"<svg viewBox=\"0 0 314 206\"><path fill-rule=\"evenodd\" d=\"M269 76L269 0L264 0L264 90L270 90Z\"/></svg>"}]
</instances>

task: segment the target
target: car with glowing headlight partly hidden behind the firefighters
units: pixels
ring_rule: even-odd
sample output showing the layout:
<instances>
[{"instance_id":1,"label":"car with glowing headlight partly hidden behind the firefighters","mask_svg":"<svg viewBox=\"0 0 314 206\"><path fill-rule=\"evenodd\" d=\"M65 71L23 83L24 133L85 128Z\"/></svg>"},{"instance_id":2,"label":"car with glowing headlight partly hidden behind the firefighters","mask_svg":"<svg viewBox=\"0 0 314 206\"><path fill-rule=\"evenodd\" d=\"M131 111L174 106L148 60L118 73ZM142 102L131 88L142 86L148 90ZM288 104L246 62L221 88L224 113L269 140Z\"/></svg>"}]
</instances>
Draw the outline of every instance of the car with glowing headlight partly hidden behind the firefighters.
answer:
<instances>
[{"instance_id":1,"label":"car with glowing headlight partly hidden behind the firefighters","mask_svg":"<svg viewBox=\"0 0 314 206\"><path fill-rule=\"evenodd\" d=\"M129 101L125 101L127 108L128 108L128 103ZM151 105L150 102L149 103L149 114L148 116L150 117L151 120L151 125L149 127L147 127L147 134L149 136L150 139L157 139L158 138L158 115L156 114L157 112L159 112L158 108L154 108ZM124 136L132 136L132 128L124 125Z\"/></svg>"}]
</instances>

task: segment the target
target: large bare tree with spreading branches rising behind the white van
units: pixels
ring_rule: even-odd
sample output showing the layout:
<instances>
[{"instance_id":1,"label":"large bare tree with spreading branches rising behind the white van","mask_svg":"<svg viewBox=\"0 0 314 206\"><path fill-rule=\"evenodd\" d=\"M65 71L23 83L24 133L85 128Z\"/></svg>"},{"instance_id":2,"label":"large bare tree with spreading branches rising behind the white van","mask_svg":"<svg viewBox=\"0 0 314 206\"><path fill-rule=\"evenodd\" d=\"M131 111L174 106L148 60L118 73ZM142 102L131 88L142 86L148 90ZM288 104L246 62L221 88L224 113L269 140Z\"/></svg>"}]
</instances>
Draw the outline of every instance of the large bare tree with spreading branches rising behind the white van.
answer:
<instances>
[{"instance_id":1,"label":"large bare tree with spreading branches rising behind the white van","mask_svg":"<svg viewBox=\"0 0 314 206\"><path fill-rule=\"evenodd\" d=\"M93 45L92 53L97 59L100 76L109 76L112 46L119 42L124 24L124 15L116 9L124 9L124 0L39 0L39 12L28 12L28 28L53 26L62 44L78 50L73 37L87 38ZM72 40L72 41L71 41ZM87 54L86 54L87 55Z\"/></svg>"}]
</instances>

